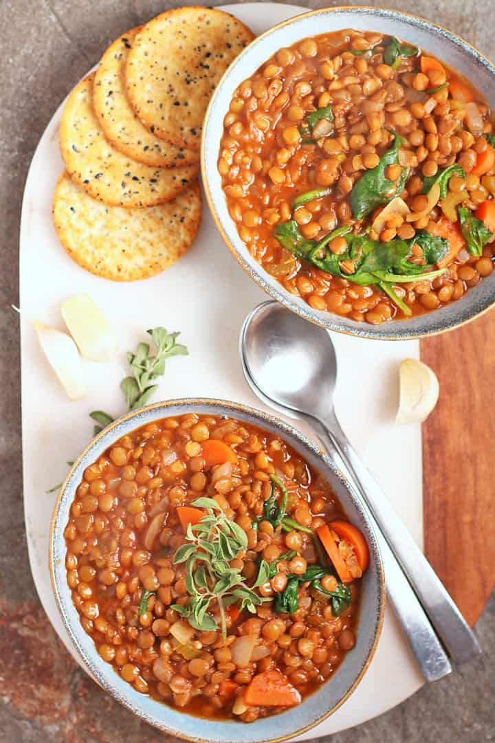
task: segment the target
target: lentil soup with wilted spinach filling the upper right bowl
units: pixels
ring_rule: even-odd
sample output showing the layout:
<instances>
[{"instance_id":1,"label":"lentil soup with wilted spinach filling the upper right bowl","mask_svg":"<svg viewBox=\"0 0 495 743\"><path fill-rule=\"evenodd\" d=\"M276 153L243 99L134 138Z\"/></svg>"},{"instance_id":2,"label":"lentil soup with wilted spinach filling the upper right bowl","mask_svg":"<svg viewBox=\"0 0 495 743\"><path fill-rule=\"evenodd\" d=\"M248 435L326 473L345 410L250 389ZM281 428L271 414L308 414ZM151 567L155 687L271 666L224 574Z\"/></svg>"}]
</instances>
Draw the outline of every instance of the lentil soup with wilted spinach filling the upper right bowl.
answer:
<instances>
[{"instance_id":1,"label":"lentil soup with wilted spinach filling the upper right bowl","mask_svg":"<svg viewBox=\"0 0 495 743\"><path fill-rule=\"evenodd\" d=\"M219 172L250 253L319 311L379 325L494 269L493 114L409 42L343 30L239 85Z\"/></svg>"}]
</instances>

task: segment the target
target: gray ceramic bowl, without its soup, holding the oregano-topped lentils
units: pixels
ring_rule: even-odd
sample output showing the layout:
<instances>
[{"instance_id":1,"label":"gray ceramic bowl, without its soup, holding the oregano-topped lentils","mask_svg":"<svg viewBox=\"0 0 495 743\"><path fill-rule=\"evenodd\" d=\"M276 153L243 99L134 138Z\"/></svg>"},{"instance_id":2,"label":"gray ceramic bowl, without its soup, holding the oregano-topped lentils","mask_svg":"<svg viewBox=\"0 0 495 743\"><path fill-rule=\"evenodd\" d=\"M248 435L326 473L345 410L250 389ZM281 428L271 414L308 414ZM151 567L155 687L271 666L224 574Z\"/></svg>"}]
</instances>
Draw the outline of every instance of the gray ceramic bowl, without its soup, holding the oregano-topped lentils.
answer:
<instances>
[{"instance_id":1,"label":"gray ceramic bowl, without its soup, holding the oregano-topped lentils","mask_svg":"<svg viewBox=\"0 0 495 743\"><path fill-rule=\"evenodd\" d=\"M352 652L346 655L340 668L329 681L317 692L305 699L299 707L289 712L245 724L236 721L210 721L195 718L181 713L166 704L161 704L139 692L123 681L109 663L98 655L96 646L89 635L86 635L80 624L80 617L71 600L71 591L67 585L65 571L64 529L68 522L71 503L77 486L83 478L85 467L111 446L118 438L139 426L170 415L181 415L186 412L209 413L239 418L241 421L261 426L279 433L294 449L299 451L308 462L316 467L328 479L340 499L349 519L363 531L370 550L370 564L363 577L360 620L357 628L357 642ZM309 727L322 721L343 704L357 687L360 679L369 666L378 637L384 614L384 571L375 533L363 512L360 503L349 490L346 481L337 472L334 465L314 444L297 432L292 426L282 423L277 418L235 403L221 400L171 400L157 403L137 412L129 413L124 418L106 428L83 452L72 467L65 481L59 499L56 502L54 517L51 523L50 568L56 602L68 634L71 636L77 651L80 653L88 671L98 683L117 701L129 710L142 717L155 727L174 736L202 743L261 743L281 741L308 730Z\"/></svg>"}]
</instances>

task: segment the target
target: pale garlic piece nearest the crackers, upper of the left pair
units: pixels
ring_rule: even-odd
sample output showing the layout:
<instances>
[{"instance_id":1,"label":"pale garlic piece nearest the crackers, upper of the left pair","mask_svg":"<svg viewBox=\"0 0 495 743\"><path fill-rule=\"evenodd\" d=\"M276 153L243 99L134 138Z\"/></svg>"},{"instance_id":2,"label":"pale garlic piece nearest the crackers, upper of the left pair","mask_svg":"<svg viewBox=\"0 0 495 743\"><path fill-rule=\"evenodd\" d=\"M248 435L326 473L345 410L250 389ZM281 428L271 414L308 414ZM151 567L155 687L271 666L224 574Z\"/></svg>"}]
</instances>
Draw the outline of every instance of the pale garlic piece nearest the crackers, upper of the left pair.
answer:
<instances>
[{"instance_id":1,"label":"pale garlic piece nearest the crackers, upper of the left pair","mask_svg":"<svg viewBox=\"0 0 495 743\"><path fill-rule=\"evenodd\" d=\"M90 361L110 361L117 351L117 341L91 296L71 296L62 303L60 310L81 354Z\"/></svg>"}]
</instances>

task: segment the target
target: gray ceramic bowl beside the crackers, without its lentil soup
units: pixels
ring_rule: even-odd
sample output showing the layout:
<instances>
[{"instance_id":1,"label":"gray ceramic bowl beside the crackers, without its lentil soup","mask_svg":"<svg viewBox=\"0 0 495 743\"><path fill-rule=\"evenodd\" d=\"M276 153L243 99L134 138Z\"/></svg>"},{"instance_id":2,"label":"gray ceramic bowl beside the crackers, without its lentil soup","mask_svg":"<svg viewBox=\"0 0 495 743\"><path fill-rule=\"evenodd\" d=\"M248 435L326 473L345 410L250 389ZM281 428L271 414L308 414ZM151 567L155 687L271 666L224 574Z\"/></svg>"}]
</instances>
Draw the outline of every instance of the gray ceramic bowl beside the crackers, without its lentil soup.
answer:
<instances>
[{"instance_id":1,"label":"gray ceramic bowl beside the crackers, without its lentil soup","mask_svg":"<svg viewBox=\"0 0 495 743\"><path fill-rule=\"evenodd\" d=\"M491 104L491 108L495 108L494 65L459 36L434 23L408 13L377 7L332 7L303 13L255 39L230 65L216 88L204 122L201 147L201 170L210 210L233 256L251 278L274 299L282 302L282 305L305 319L316 322L317 325L363 338L384 340L418 338L452 330L478 317L494 305L495 272L452 305L421 317L386 322L383 325L368 325L365 322L356 322L329 312L314 310L300 297L286 291L250 255L227 211L217 160L224 115L229 109L233 92L280 48L291 46L307 36L317 36L319 33L343 28L381 31L434 53L472 80Z\"/></svg>"}]
</instances>

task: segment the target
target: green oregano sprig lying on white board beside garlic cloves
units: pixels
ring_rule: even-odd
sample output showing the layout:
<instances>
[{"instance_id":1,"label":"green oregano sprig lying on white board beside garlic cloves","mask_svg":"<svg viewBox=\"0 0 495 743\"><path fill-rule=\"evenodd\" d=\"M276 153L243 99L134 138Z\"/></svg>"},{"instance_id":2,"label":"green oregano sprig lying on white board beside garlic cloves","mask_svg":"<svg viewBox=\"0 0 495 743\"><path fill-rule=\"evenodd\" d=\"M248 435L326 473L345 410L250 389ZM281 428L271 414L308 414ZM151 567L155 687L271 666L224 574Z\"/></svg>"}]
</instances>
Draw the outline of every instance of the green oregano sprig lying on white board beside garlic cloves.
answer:
<instances>
[{"instance_id":1,"label":"green oregano sprig lying on white board beside garlic cloves","mask_svg":"<svg viewBox=\"0 0 495 743\"><path fill-rule=\"evenodd\" d=\"M158 388L158 385L153 382L163 376L167 359L188 354L185 345L176 343L180 333L167 333L165 328L161 327L152 328L146 332L155 344L155 354L150 352L149 343L140 343L134 354L129 351L127 360L132 374L120 382L120 389L126 398L129 411L146 405L155 389ZM89 416L97 423L94 426L93 435L97 435L114 421L114 418L103 410L94 410Z\"/></svg>"}]
</instances>

